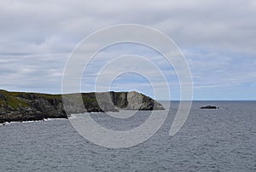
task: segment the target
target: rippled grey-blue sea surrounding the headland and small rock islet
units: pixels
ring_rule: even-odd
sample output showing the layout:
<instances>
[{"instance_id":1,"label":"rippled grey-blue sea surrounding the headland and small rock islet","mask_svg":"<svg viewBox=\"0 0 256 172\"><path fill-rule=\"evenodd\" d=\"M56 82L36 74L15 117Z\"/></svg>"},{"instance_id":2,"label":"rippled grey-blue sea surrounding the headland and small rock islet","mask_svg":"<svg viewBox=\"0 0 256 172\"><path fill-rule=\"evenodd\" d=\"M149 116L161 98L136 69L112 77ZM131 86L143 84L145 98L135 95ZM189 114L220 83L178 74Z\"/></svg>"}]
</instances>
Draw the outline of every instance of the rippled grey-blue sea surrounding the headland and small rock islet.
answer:
<instances>
[{"instance_id":1,"label":"rippled grey-blue sea surrounding the headland and small rock islet","mask_svg":"<svg viewBox=\"0 0 256 172\"><path fill-rule=\"evenodd\" d=\"M200 109L207 105L220 109ZM256 171L256 101L194 101L183 128L170 137L177 106L171 103L153 137L122 149L94 145L67 119L0 126L0 171ZM132 129L149 113L90 115L106 128Z\"/></svg>"}]
</instances>

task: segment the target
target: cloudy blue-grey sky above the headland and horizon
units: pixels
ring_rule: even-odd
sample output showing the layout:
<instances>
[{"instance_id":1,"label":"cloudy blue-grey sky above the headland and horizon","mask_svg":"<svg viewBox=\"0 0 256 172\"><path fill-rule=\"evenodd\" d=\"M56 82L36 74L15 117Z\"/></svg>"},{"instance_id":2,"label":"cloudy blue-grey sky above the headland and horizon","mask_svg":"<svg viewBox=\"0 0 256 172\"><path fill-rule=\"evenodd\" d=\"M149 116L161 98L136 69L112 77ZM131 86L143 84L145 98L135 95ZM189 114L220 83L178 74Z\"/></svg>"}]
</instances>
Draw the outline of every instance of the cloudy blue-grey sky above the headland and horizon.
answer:
<instances>
[{"instance_id":1,"label":"cloudy blue-grey sky above the headland and horizon","mask_svg":"<svg viewBox=\"0 0 256 172\"><path fill-rule=\"evenodd\" d=\"M256 100L255 16L255 0L2 0L0 89L61 93L65 64L84 37L108 26L138 24L153 27L177 43L191 71L194 100ZM93 78L102 66L122 54L153 60L166 74L172 100L179 100L172 66L166 66L153 49L132 43L96 54L84 71L81 91L94 91ZM144 71L158 82L159 76L147 68ZM100 87L109 89L104 84ZM110 89L155 95L148 79L132 72L117 76ZM156 98L166 100L167 96L162 93Z\"/></svg>"}]
</instances>

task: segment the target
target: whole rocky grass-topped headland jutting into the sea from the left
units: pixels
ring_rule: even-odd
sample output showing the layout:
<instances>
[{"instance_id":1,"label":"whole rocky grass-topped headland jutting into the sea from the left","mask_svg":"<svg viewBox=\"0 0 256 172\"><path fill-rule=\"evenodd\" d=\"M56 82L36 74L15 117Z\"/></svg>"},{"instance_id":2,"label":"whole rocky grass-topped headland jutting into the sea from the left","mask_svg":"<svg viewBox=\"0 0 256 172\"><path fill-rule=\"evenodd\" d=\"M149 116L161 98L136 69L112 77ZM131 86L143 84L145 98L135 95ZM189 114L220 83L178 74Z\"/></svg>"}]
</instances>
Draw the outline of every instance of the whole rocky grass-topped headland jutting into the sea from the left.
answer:
<instances>
[{"instance_id":1,"label":"whole rocky grass-topped headland jutting into the sea from the left","mask_svg":"<svg viewBox=\"0 0 256 172\"><path fill-rule=\"evenodd\" d=\"M81 96L83 105L77 100L77 95ZM72 113L119 112L119 109L164 110L159 102L136 91L68 94L64 97L65 105L71 107L67 108L68 111L64 109L62 95L9 92L0 89L0 123L67 118ZM108 98L112 102L108 102Z\"/></svg>"}]
</instances>

